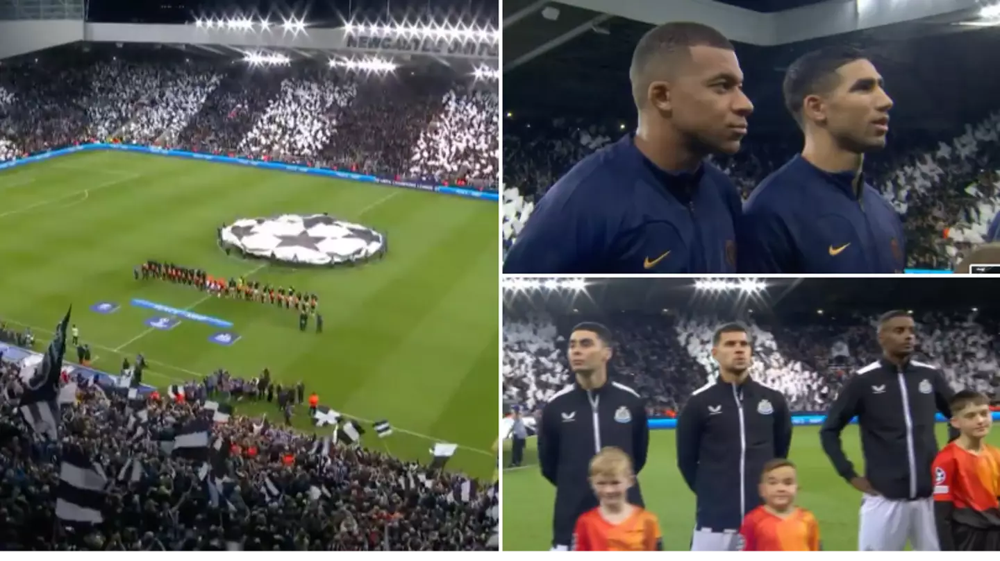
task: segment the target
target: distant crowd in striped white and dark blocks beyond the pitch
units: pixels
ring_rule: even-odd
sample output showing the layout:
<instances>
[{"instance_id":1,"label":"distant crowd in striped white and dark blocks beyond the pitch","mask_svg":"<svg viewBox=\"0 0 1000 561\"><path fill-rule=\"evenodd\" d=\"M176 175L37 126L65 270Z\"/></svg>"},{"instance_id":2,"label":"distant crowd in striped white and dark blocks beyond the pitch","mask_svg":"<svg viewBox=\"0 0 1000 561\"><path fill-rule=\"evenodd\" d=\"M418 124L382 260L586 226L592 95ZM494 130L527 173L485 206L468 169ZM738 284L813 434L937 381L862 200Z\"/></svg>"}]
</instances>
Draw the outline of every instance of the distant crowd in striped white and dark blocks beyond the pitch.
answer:
<instances>
[{"instance_id":1,"label":"distant crowd in striped white and dark blocks beyond the pitch","mask_svg":"<svg viewBox=\"0 0 1000 561\"><path fill-rule=\"evenodd\" d=\"M56 50L58 51L58 50ZM0 161L113 140L495 189L495 84L249 69L167 54L46 53L0 74ZM471 85L470 85L471 84Z\"/></svg>"}]
</instances>

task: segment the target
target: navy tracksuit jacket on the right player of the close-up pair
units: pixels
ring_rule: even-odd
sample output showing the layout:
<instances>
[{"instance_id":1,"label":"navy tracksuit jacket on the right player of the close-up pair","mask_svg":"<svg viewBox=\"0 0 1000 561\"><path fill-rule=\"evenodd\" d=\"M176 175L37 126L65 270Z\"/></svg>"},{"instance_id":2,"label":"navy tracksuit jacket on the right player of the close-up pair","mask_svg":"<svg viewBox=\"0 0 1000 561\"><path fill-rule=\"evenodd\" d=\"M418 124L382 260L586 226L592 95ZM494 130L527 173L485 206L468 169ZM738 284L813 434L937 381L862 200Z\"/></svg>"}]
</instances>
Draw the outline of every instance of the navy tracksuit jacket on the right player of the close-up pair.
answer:
<instances>
[{"instance_id":1,"label":"navy tracksuit jacket on the right player of the close-up pair","mask_svg":"<svg viewBox=\"0 0 1000 561\"><path fill-rule=\"evenodd\" d=\"M903 273L899 215L867 183L859 197L853 181L801 156L768 176L743 206L740 273Z\"/></svg>"}]
</instances>

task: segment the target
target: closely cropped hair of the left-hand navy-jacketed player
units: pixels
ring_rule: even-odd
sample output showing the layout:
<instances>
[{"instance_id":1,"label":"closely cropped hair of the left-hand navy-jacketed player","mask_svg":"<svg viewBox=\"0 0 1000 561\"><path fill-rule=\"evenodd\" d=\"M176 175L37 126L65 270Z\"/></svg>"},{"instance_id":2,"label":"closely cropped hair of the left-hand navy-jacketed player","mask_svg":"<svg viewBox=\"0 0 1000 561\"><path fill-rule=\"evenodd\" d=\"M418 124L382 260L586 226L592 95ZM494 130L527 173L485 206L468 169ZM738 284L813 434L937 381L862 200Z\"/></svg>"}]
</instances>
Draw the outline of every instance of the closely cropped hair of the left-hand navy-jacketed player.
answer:
<instances>
[{"instance_id":1,"label":"closely cropped hair of the left-hand navy-jacketed player","mask_svg":"<svg viewBox=\"0 0 1000 561\"><path fill-rule=\"evenodd\" d=\"M632 81L632 99L635 106L642 107L642 101L649 90L650 65L654 61L665 63L668 72L670 64L680 56L690 56L691 47L714 47L735 50L726 36L715 28L702 23L675 21L650 29L639 39L632 52L632 65L628 69Z\"/></svg>"}]
</instances>

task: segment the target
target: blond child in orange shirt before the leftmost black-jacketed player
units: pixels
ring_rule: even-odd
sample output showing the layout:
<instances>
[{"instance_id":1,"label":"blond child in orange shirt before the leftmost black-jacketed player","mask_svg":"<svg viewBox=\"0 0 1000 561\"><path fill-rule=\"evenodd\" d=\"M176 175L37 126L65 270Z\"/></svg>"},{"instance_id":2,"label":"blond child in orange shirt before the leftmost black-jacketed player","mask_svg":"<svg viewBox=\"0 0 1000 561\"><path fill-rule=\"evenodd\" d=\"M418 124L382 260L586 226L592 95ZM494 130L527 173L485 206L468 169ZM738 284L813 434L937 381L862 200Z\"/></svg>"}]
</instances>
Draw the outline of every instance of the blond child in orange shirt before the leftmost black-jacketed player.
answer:
<instances>
[{"instance_id":1,"label":"blond child in orange shirt before the leftmost black-jacketed player","mask_svg":"<svg viewBox=\"0 0 1000 561\"><path fill-rule=\"evenodd\" d=\"M663 553L656 515L628 502L634 484L632 460L621 448L606 446L590 460L590 486L600 504L576 520L572 553Z\"/></svg>"}]
</instances>

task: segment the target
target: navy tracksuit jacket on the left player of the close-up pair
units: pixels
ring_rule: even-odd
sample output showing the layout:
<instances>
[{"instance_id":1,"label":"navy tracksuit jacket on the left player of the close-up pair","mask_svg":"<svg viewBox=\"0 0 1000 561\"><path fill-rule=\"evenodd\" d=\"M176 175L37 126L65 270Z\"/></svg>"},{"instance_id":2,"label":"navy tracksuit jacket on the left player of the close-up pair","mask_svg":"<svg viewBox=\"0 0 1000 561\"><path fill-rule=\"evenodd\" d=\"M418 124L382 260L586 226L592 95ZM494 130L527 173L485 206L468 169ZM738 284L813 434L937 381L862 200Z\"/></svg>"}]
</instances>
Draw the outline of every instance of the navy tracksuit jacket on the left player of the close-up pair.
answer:
<instances>
[{"instance_id":1,"label":"navy tracksuit jacket on the left player of the close-up pair","mask_svg":"<svg viewBox=\"0 0 1000 561\"><path fill-rule=\"evenodd\" d=\"M539 201L505 274L736 272L736 187L718 168L665 172L631 136L585 158Z\"/></svg>"}]
</instances>

